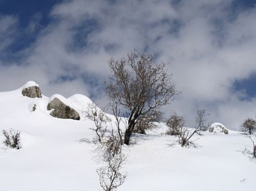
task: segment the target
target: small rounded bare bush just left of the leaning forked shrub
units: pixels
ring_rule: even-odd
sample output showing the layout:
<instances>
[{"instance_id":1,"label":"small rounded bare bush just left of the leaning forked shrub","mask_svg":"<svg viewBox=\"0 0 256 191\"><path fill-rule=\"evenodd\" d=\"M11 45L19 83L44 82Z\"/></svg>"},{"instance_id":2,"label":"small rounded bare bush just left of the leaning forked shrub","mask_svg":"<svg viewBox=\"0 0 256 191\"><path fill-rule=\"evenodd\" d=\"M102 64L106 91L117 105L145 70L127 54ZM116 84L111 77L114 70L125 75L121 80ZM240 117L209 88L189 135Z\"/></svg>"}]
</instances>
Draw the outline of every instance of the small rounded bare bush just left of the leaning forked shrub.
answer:
<instances>
[{"instance_id":1,"label":"small rounded bare bush just left of the leaning forked shrub","mask_svg":"<svg viewBox=\"0 0 256 191\"><path fill-rule=\"evenodd\" d=\"M171 117L167 120L168 130L166 132L167 135L179 135L182 132L182 128L184 127L185 120L183 117L178 116L175 112L171 115Z\"/></svg>"}]
</instances>

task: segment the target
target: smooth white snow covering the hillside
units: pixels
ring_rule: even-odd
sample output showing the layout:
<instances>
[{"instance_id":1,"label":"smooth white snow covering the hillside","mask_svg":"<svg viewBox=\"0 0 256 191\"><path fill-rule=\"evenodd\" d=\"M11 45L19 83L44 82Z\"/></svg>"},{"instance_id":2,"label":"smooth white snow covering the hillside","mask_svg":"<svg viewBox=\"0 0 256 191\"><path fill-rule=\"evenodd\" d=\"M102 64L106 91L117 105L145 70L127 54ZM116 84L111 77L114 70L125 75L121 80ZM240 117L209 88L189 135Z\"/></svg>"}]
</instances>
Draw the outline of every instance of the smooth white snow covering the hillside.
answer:
<instances>
[{"instance_id":1,"label":"smooth white snow covering the hillside","mask_svg":"<svg viewBox=\"0 0 256 191\"><path fill-rule=\"evenodd\" d=\"M95 146L84 141L94 137L92 123L82 116L81 121L51 117L48 101L24 97L21 88L0 93L0 130L22 135L22 149L0 145L0 190L101 190ZM82 95L68 98L80 114L89 101ZM119 190L256 190L256 160L244 152L252 144L241 132L205 132L195 148L181 148L176 137L161 135L164 131L134 135L125 146L128 176Z\"/></svg>"}]
</instances>

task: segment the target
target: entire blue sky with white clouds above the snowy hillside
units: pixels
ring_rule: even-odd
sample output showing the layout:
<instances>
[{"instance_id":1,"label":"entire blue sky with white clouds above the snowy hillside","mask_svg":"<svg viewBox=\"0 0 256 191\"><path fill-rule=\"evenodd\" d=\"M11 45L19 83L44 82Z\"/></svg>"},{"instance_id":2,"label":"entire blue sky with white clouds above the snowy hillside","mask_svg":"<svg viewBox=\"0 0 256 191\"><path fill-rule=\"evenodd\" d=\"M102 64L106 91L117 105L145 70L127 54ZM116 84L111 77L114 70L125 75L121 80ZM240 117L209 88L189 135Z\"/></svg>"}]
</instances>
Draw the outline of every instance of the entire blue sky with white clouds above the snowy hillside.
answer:
<instances>
[{"instance_id":1,"label":"entire blue sky with white clouds above the snowy hillside","mask_svg":"<svg viewBox=\"0 0 256 191\"><path fill-rule=\"evenodd\" d=\"M107 60L136 48L167 62L179 90L164 108L199 108L231 128L256 105L256 1L0 0L0 91L38 81L46 96L107 103ZM235 120L234 120L235 119Z\"/></svg>"}]
</instances>

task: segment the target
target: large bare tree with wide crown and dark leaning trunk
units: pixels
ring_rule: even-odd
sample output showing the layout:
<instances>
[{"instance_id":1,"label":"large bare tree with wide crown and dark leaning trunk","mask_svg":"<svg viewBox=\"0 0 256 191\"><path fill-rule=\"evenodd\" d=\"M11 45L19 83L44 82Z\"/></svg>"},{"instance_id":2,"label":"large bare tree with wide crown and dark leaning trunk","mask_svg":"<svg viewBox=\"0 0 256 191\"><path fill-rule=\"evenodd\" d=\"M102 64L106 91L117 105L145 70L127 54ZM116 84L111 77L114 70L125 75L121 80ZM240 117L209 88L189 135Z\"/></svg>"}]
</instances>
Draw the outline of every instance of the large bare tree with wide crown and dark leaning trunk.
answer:
<instances>
[{"instance_id":1,"label":"large bare tree with wide crown and dark leaning trunk","mask_svg":"<svg viewBox=\"0 0 256 191\"><path fill-rule=\"evenodd\" d=\"M179 92L165 64L155 63L153 54L134 50L126 58L111 59L108 64L113 76L106 84L106 93L109 100L128 114L124 135L124 143L128 145L137 122L148 112L171 103Z\"/></svg>"}]
</instances>

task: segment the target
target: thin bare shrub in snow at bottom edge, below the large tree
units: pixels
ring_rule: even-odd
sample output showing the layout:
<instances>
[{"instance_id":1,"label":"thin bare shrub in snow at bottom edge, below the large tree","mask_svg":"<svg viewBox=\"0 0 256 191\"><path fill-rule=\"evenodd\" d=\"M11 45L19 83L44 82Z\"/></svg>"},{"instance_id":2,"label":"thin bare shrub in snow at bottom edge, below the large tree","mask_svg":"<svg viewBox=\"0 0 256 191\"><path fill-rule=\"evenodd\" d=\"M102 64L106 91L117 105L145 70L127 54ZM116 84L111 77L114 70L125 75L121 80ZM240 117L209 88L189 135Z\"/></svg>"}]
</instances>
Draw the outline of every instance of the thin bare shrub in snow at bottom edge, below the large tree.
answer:
<instances>
[{"instance_id":1,"label":"thin bare shrub in snow at bottom edge, below the large tree","mask_svg":"<svg viewBox=\"0 0 256 191\"><path fill-rule=\"evenodd\" d=\"M124 183L126 173L122 171L122 164L126 157L122 154L122 143L119 135L111 132L107 137L102 139L99 148L102 151L104 166L101 166L96 171L99 175L99 183L103 190L116 190L117 187Z\"/></svg>"}]
</instances>

